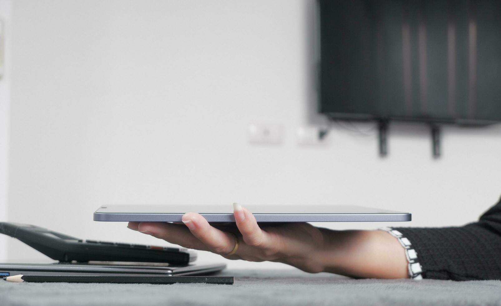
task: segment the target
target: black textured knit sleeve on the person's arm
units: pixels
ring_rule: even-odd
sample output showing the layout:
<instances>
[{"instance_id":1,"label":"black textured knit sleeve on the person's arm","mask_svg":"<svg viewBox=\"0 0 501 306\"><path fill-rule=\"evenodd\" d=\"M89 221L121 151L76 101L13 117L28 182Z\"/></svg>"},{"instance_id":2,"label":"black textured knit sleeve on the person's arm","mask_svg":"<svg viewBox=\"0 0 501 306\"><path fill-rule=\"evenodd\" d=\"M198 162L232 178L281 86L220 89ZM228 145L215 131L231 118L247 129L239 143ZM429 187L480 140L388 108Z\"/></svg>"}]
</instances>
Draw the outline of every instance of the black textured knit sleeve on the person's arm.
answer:
<instances>
[{"instance_id":1,"label":"black textured knit sleeve on the person's arm","mask_svg":"<svg viewBox=\"0 0 501 306\"><path fill-rule=\"evenodd\" d=\"M501 279L501 199L464 226L395 229L412 243L423 278Z\"/></svg>"}]
</instances>

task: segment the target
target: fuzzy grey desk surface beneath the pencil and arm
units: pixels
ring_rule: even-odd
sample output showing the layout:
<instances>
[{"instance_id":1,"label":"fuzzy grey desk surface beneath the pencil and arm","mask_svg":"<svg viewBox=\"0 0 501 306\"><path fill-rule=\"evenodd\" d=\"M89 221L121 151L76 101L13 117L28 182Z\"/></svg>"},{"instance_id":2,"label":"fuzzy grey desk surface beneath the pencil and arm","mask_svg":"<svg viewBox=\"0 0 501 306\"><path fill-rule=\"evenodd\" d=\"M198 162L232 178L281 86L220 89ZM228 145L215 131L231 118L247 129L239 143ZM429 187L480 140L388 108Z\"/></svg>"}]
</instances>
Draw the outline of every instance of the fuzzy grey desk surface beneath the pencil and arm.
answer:
<instances>
[{"instance_id":1,"label":"fuzzy grey desk surface beneath the pencil and arm","mask_svg":"<svg viewBox=\"0 0 501 306\"><path fill-rule=\"evenodd\" d=\"M10 283L0 305L501 305L501 281L350 279L299 270L227 270L234 285Z\"/></svg>"}]
</instances>

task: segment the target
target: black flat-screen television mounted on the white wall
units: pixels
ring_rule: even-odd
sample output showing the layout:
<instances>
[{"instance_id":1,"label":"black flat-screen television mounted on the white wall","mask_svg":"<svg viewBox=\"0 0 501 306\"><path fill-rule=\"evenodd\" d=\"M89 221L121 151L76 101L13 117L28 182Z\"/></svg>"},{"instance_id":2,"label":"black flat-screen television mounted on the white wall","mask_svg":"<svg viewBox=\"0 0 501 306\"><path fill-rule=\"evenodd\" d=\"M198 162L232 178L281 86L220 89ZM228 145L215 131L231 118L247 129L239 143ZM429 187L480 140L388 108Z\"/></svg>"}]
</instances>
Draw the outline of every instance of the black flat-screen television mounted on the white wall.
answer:
<instances>
[{"instance_id":1,"label":"black flat-screen television mounted on the white wall","mask_svg":"<svg viewBox=\"0 0 501 306\"><path fill-rule=\"evenodd\" d=\"M319 0L320 112L501 121L501 1Z\"/></svg>"}]
</instances>

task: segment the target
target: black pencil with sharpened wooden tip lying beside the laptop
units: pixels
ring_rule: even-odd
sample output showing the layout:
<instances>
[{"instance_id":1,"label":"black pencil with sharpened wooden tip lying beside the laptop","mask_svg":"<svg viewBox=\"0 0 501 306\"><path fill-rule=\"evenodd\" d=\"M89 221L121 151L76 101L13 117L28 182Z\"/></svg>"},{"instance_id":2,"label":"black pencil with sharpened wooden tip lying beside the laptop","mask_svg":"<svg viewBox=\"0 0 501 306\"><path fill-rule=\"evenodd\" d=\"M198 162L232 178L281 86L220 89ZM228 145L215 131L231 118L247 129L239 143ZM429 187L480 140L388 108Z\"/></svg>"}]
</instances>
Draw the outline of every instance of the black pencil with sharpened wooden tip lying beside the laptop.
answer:
<instances>
[{"instance_id":1,"label":"black pencil with sharpened wooden tip lying beside the laptop","mask_svg":"<svg viewBox=\"0 0 501 306\"><path fill-rule=\"evenodd\" d=\"M169 275L13 275L4 277L11 282L97 282L97 283L216 283L233 284L233 276L169 276Z\"/></svg>"}]
</instances>

